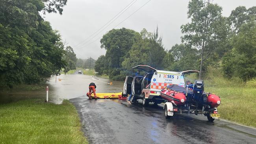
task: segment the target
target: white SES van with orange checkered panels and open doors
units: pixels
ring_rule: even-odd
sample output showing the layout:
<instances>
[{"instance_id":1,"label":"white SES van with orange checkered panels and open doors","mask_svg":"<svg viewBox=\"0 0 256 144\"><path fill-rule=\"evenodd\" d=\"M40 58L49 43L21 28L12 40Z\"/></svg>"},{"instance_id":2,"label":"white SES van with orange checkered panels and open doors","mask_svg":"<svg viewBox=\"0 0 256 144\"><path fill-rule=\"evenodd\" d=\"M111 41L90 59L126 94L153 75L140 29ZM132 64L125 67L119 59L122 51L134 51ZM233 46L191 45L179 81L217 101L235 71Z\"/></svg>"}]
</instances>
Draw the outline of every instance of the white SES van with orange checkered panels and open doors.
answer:
<instances>
[{"instance_id":1,"label":"white SES van with orange checkered panels and open doors","mask_svg":"<svg viewBox=\"0 0 256 144\"><path fill-rule=\"evenodd\" d=\"M132 104L142 99L143 106L147 106L149 102L154 102L154 105L165 102L160 96L161 89L173 84L185 87L184 74L198 72L196 70L171 72L157 70L147 65L138 65L133 69L143 70L146 74L145 76L126 76L123 95L132 94Z\"/></svg>"}]
</instances>

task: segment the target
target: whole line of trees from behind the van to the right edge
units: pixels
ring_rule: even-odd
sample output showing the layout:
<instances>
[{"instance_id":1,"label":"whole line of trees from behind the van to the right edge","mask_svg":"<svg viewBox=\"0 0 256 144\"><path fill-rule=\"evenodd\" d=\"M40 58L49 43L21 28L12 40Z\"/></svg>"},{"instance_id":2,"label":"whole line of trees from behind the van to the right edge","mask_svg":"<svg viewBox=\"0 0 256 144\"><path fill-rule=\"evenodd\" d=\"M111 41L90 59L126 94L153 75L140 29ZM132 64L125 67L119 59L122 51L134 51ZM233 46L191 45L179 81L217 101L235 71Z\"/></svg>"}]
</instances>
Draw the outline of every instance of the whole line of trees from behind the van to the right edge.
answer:
<instances>
[{"instance_id":1,"label":"whole line of trees from behind the van to the right edge","mask_svg":"<svg viewBox=\"0 0 256 144\"><path fill-rule=\"evenodd\" d=\"M182 25L182 44L165 50L158 28L140 33L125 28L111 30L101 39L106 55L98 58L95 70L109 78L122 80L133 74L133 66L150 65L171 70L222 68L228 78L248 80L256 77L256 7L239 6L229 17L222 7L209 0L191 0L191 22ZM129 34L128 34L129 33Z\"/></svg>"}]
</instances>

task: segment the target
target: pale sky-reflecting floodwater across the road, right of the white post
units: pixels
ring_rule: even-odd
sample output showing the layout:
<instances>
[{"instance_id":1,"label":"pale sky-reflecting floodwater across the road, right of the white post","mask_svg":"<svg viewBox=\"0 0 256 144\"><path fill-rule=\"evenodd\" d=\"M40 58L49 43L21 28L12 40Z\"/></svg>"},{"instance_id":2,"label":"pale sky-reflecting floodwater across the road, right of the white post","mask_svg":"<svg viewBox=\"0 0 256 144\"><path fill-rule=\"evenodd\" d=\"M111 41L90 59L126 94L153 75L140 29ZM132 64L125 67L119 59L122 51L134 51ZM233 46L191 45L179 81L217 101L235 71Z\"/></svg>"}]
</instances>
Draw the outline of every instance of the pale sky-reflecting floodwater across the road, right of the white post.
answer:
<instances>
[{"instance_id":1,"label":"pale sky-reflecting floodwater across the road, right of the white post","mask_svg":"<svg viewBox=\"0 0 256 144\"><path fill-rule=\"evenodd\" d=\"M49 98L54 103L61 103L63 99L76 98L85 96L89 91L88 87L91 82L96 83L96 92L121 92L123 83L120 81L110 81L109 79L95 79L93 76L83 74L60 75L57 78L50 78L47 83L49 85ZM113 82L113 85L108 83Z\"/></svg>"}]
</instances>

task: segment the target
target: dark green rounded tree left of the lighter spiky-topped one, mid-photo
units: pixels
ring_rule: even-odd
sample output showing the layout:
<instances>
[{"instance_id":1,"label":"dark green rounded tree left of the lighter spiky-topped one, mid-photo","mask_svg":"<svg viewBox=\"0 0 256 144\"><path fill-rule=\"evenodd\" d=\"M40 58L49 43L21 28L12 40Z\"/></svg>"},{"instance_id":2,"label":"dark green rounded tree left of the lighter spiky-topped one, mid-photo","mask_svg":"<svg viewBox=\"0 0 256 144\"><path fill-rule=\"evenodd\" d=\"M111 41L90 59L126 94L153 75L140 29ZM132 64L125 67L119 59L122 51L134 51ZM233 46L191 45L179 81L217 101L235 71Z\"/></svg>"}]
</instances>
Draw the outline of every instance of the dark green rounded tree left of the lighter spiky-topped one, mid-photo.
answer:
<instances>
[{"instance_id":1,"label":"dark green rounded tree left of the lighter spiky-topped one, mid-photo","mask_svg":"<svg viewBox=\"0 0 256 144\"><path fill-rule=\"evenodd\" d=\"M106 49L105 63L108 64L106 67L109 78L114 80L123 79L124 76L120 76L122 62L134 44L135 35L139 35L139 33L134 30L113 29L100 39L101 48Z\"/></svg>"}]
</instances>

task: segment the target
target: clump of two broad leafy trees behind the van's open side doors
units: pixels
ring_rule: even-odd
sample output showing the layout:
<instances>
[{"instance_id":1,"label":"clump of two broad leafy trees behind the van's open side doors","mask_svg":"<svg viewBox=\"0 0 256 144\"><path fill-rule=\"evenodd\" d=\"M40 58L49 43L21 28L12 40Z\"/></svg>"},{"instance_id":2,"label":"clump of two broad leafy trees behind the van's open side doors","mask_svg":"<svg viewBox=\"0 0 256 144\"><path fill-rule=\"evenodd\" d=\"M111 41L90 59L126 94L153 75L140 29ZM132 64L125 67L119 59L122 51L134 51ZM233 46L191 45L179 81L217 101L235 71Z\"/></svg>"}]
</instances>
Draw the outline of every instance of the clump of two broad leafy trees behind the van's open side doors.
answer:
<instances>
[{"instance_id":1,"label":"clump of two broad leafy trees behind the van's open side doors","mask_svg":"<svg viewBox=\"0 0 256 144\"><path fill-rule=\"evenodd\" d=\"M133 74L132 67L136 65L164 68L162 64L166 52L158 28L154 33L146 29L141 33L126 28L113 29L100 42L107 52L106 56L98 58L95 70L99 74L108 74L111 79L122 80L127 74Z\"/></svg>"}]
</instances>

